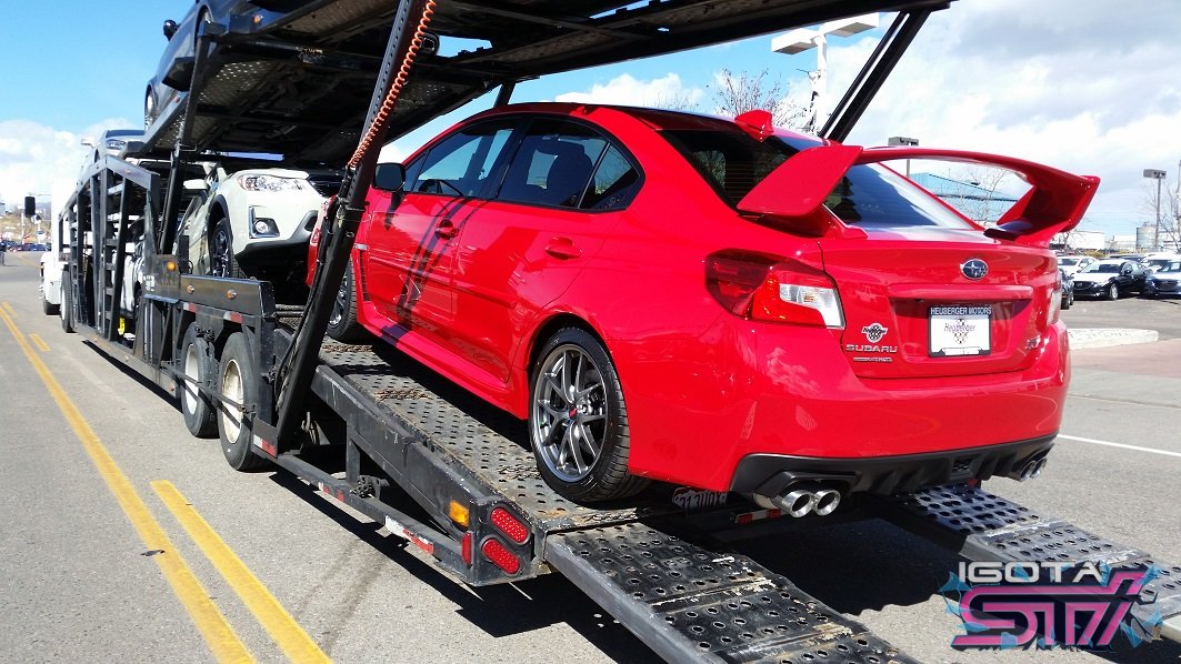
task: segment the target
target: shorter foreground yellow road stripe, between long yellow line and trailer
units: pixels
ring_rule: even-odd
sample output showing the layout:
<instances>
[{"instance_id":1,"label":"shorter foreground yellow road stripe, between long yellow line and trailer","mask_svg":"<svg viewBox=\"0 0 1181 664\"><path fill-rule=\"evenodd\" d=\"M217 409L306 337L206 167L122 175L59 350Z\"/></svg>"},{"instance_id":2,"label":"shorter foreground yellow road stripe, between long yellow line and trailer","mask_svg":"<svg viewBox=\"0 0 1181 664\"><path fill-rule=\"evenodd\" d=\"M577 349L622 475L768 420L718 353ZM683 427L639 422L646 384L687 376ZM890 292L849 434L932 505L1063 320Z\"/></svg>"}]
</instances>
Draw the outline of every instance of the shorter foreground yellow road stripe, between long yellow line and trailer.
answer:
<instances>
[{"instance_id":1,"label":"shorter foreground yellow road stripe, between long yellow line and trailer","mask_svg":"<svg viewBox=\"0 0 1181 664\"><path fill-rule=\"evenodd\" d=\"M292 662L332 662L172 482L156 480L151 487Z\"/></svg>"}]
</instances>

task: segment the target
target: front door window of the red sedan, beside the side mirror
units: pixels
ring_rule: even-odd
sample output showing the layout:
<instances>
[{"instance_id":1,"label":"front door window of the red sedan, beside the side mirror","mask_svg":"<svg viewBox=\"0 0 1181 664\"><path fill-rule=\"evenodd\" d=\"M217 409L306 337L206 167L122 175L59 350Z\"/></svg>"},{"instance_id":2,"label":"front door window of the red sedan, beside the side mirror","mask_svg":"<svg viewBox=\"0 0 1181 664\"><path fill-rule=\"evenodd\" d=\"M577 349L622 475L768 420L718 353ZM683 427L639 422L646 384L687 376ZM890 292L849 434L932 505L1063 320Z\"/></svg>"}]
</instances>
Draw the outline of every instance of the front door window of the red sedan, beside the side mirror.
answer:
<instances>
[{"instance_id":1,"label":"front door window of the red sedan, beside the side mirror","mask_svg":"<svg viewBox=\"0 0 1181 664\"><path fill-rule=\"evenodd\" d=\"M406 169L406 191L478 197L504 156L513 120L464 127L431 147Z\"/></svg>"}]
</instances>

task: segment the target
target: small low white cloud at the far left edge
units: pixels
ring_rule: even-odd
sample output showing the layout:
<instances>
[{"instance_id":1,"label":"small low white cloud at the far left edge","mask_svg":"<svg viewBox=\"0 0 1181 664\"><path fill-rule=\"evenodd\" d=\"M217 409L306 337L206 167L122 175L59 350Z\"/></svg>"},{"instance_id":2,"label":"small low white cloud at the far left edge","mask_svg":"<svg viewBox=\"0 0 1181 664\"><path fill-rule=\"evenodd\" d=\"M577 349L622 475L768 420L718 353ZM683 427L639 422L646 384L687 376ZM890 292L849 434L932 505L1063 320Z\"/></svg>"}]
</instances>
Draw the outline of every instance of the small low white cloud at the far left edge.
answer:
<instances>
[{"instance_id":1,"label":"small low white cloud at the far left edge","mask_svg":"<svg viewBox=\"0 0 1181 664\"><path fill-rule=\"evenodd\" d=\"M83 137L94 138L109 127L126 126L135 124L110 118L73 133L32 120L0 121L0 200L14 206L25 196L48 195L57 211L77 183L87 150L80 144Z\"/></svg>"}]
</instances>

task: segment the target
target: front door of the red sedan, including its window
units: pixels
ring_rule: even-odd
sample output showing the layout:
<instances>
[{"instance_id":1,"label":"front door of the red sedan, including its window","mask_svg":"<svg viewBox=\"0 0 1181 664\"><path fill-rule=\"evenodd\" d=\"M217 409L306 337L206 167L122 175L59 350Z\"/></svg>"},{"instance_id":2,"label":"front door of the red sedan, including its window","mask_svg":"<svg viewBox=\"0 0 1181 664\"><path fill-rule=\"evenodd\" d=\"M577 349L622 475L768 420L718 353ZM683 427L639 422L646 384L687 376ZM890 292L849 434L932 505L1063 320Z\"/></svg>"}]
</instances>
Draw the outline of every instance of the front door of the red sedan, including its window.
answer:
<instances>
[{"instance_id":1,"label":"front door of the red sedan, including its window","mask_svg":"<svg viewBox=\"0 0 1181 664\"><path fill-rule=\"evenodd\" d=\"M405 193L370 190L365 289L383 323L400 328L387 329L391 336L413 331L446 343L455 320L456 238L483 205L479 195L513 126L495 120L456 131L407 166Z\"/></svg>"}]
</instances>

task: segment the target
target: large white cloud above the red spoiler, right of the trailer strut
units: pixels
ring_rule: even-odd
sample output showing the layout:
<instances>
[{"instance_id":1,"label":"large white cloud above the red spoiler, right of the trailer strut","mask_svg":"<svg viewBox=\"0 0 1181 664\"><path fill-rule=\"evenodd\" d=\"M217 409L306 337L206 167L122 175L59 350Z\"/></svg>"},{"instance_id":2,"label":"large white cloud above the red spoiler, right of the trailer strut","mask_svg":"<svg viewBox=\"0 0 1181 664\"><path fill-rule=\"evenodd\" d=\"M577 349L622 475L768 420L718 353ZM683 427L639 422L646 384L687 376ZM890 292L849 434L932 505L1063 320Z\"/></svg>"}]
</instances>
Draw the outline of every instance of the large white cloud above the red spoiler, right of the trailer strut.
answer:
<instances>
[{"instance_id":1,"label":"large white cloud above the red spoiler, right of the trailer strut","mask_svg":"<svg viewBox=\"0 0 1181 664\"><path fill-rule=\"evenodd\" d=\"M1179 33L1166 0L955 2L931 17L849 142L909 136L1096 175L1092 228L1129 234L1151 217L1142 171L1163 169L1176 186ZM848 85L873 46L830 47L830 90Z\"/></svg>"}]
</instances>

